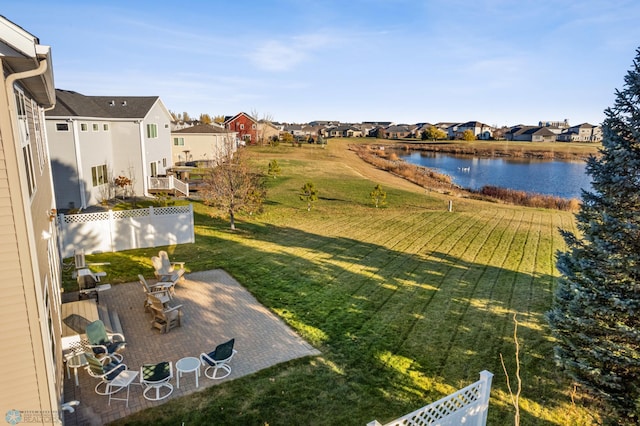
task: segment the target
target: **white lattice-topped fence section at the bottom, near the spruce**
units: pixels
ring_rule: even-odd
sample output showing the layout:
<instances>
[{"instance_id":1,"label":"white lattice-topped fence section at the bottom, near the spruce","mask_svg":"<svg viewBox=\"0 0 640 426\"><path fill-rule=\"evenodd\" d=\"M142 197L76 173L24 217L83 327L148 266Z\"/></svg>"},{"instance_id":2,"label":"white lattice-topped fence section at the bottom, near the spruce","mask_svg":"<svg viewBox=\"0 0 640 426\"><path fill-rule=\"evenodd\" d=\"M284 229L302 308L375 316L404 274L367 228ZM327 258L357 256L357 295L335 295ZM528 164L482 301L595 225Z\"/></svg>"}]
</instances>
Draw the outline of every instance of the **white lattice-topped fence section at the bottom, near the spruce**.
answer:
<instances>
[{"instance_id":1,"label":"white lattice-topped fence section at the bottom, near the spruce","mask_svg":"<svg viewBox=\"0 0 640 426\"><path fill-rule=\"evenodd\" d=\"M484 370L480 380L384 426L484 426L487 423L493 374ZM367 426L382 426L377 420Z\"/></svg>"}]
</instances>

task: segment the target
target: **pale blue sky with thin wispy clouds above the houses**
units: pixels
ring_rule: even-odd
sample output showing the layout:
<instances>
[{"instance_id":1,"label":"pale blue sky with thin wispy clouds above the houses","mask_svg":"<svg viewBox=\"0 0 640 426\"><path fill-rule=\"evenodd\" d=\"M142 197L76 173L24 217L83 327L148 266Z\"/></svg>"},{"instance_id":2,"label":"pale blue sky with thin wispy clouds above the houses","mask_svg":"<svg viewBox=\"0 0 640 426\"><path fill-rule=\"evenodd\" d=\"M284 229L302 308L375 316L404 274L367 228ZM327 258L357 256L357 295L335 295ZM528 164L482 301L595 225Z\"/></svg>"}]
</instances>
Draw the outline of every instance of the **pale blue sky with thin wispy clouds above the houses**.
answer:
<instances>
[{"instance_id":1,"label":"pale blue sky with thin wispy clouds above the houses","mask_svg":"<svg viewBox=\"0 0 640 426\"><path fill-rule=\"evenodd\" d=\"M637 0L7 3L57 88L192 117L599 124L640 46Z\"/></svg>"}]
</instances>

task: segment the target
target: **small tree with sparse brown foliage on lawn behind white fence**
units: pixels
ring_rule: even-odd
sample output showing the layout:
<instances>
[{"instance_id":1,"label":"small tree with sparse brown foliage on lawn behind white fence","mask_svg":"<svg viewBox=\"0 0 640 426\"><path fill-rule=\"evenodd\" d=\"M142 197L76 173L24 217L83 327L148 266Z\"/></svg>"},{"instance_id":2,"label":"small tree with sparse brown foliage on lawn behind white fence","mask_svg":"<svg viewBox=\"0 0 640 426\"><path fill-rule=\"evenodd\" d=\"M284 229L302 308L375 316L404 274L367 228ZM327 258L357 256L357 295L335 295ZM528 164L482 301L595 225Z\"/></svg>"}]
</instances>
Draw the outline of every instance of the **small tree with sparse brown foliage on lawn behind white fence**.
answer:
<instances>
[{"instance_id":1,"label":"small tree with sparse brown foliage on lawn behind white fence","mask_svg":"<svg viewBox=\"0 0 640 426\"><path fill-rule=\"evenodd\" d=\"M229 140L217 165L203 178L202 200L229 214L232 230L236 229L237 213L260 212L266 196L264 176L254 170L245 158L243 149L234 149Z\"/></svg>"}]
</instances>

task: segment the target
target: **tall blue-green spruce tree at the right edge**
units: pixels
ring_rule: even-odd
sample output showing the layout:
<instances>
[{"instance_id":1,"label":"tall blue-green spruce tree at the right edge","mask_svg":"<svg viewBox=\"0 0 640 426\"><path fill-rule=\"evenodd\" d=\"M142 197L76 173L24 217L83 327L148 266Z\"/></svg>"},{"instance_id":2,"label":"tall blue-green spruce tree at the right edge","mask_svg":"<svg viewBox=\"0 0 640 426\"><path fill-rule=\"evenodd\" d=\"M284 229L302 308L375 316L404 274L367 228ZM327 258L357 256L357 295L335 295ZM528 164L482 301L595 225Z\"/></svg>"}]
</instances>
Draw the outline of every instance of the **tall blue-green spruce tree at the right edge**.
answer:
<instances>
[{"instance_id":1,"label":"tall blue-green spruce tree at the right edge","mask_svg":"<svg viewBox=\"0 0 640 426\"><path fill-rule=\"evenodd\" d=\"M576 214L579 235L561 231L562 277L547 318L556 358L609 404L622 424L640 414L640 49L605 110L601 156L587 161L592 191Z\"/></svg>"}]
</instances>

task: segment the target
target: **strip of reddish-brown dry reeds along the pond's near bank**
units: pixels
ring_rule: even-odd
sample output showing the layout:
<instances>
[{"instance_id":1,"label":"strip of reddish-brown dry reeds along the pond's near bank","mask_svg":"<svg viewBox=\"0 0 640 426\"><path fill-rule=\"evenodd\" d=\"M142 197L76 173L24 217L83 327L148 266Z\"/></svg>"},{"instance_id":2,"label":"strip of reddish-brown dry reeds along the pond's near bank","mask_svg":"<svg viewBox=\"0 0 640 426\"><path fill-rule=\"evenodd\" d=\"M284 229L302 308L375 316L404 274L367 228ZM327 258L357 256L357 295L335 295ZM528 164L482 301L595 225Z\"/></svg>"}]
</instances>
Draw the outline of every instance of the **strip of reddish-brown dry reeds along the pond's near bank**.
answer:
<instances>
[{"instance_id":1,"label":"strip of reddish-brown dry reeds along the pond's near bank","mask_svg":"<svg viewBox=\"0 0 640 426\"><path fill-rule=\"evenodd\" d=\"M364 161L380 170L388 171L424 188L441 193L455 193L485 201L502 201L519 206L564 211L577 211L580 207L580 201L575 198L566 199L489 185L483 186L480 190L464 189L454 184L450 176L435 172L427 167L407 163L400 160L396 153L388 153L384 148L371 147L370 145L351 145L349 148Z\"/></svg>"}]
</instances>

